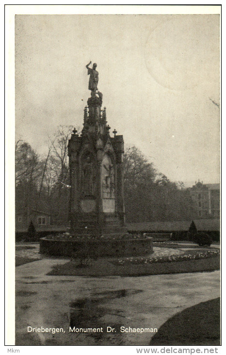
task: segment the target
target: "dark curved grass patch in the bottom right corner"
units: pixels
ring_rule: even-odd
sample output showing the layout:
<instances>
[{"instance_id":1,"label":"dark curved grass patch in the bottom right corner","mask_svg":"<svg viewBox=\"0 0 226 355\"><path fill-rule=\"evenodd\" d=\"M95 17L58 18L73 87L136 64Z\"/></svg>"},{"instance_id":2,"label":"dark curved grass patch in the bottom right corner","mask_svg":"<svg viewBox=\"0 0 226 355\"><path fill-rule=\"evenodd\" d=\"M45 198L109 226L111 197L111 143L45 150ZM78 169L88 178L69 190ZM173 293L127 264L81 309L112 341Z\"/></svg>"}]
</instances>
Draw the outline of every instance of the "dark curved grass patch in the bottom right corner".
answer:
<instances>
[{"instance_id":1,"label":"dark curved grass patch in the bottom right corner","mask_svg":"<svg viewBox=\"0 0 226 355\"><path fill-rule=\"evenodd\" d=\"M220 299L176 314L160 327L150 345L220 345Z\"/></svg>"}]
</instances>

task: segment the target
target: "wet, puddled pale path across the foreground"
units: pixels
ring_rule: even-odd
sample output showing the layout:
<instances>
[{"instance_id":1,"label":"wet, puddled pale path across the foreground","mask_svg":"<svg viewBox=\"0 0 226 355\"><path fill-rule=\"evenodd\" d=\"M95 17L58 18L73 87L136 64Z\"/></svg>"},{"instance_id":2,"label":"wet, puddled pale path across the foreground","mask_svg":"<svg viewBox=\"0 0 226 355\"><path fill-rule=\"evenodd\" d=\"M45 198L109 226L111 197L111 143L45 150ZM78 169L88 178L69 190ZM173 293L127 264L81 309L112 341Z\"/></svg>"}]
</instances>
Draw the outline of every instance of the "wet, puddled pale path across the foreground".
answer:
<instances>
[{"instance_id":1,"label":"wet, puddled pale path across the foreground","mask_svg":"<svg viewBox=\"0 0 226 355\"><path fill-rule=\"evenodd\" d=\"M28 255L40 258L36 248L20 253ZM16 267L16 345L145 346L154 332L122 333L121 326L160 329L178 312L220 296L218 270L142 277L47 275L68 261L47 257ZM28 333L28 326L61 327L65 333ZM104 332L69 333L70 326L98 326ZM107 326L116 332L106 333Z\"/></svg>"}]
</instances>

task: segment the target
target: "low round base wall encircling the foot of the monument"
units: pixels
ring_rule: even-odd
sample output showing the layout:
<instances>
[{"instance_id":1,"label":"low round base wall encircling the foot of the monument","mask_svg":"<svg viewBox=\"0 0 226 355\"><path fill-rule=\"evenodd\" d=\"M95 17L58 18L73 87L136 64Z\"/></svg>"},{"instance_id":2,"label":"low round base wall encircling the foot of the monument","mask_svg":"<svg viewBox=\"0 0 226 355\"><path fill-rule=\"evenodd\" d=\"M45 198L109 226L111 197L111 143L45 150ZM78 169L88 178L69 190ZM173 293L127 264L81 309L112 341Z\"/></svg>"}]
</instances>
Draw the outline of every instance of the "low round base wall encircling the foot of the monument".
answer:
<instances>
[{"instance_id":1,"label":"low round base wall encircling the foot of the monument","mask_svg":"<svg viewBox=\"0 0 226 355\"><path fill-rule=\"evenodd\" d=\"M40 239L40 253L54 256L139 256L153 252L152 238L124 240Z\"/></svg>"}]
</instances>

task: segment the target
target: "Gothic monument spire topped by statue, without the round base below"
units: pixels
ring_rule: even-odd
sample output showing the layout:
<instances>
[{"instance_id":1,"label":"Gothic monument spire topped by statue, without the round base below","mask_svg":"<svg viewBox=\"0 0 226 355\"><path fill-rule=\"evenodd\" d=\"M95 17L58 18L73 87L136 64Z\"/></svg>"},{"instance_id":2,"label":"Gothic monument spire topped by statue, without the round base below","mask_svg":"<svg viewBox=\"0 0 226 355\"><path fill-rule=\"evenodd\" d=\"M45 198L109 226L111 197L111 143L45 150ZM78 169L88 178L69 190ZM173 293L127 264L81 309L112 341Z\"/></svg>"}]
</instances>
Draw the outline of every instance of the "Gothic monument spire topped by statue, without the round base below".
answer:
<instances>
[{"instance_id":1,"label":"Gothic monument spire topped by statue, without the round base below","mask_svg":"<svg viewBox=\"0 0 226 355\"><path fill-rule=\"evenodd\" d=\"M110 136L103 95L97 89L97 64L86 65L91 97L84 108L81 136L74 129L68 143L71 233L104 236L125 232L123 136Z\"/></svg>"}]
</instances>

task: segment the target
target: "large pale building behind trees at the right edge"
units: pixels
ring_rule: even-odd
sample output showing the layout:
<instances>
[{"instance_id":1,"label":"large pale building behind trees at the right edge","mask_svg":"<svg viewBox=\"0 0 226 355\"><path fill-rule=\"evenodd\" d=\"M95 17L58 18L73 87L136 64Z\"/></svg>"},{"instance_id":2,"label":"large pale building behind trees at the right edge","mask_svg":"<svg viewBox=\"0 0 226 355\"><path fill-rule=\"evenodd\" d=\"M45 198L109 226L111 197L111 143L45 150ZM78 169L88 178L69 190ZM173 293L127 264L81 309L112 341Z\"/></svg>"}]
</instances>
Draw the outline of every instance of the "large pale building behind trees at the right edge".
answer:
<instances>
[{"instance_id":1,"label":"large pale building behind trees at the right edge","mask_svg":"<svg viewBox=\"0 0 226 355\"><path fill-rule=\"evenodd\" d=\"M190 188L196 218L220 217L220 184L196 182Z\"/></svg>"}]
</instances>

